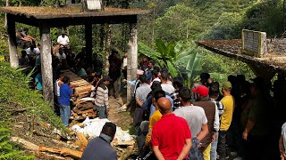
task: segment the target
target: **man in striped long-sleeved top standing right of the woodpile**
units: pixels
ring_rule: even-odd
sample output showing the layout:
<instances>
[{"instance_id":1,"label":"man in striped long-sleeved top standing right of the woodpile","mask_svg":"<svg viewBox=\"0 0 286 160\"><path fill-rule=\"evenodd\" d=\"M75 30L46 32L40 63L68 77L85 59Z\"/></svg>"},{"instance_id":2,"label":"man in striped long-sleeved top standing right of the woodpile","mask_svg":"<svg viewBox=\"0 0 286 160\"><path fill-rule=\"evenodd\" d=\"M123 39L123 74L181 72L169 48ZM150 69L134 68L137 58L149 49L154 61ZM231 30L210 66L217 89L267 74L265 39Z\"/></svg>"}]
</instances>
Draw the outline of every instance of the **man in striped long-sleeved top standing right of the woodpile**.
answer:
<instances>
[{"instance_id":1,"label":"man in striped long-sleeved top standing right of the woodpile","mask_svg":"<svg viewBox=\"0 0 286 160\"><path fill-rule=\"evenodd\" d=\"M107 85L113 81L109 76L104 76L102 81L97 87L97 98L95 100L95 109L97 109L97 117L107 118L106 113L108 112L108 88Z\"/></svg>"}]
</instances>

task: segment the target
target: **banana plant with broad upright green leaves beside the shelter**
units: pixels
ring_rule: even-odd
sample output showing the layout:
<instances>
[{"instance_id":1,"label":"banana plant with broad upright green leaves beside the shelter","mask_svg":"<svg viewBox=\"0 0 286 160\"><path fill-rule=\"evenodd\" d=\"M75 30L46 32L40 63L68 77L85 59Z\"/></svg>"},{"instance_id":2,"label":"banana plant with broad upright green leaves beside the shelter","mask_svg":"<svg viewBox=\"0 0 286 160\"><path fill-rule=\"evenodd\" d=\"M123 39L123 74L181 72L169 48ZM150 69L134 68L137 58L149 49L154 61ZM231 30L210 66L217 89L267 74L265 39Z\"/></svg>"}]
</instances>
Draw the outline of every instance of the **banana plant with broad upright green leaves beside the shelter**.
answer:
<instances>
[{"instance_id":1,"label":"banana plant with broad upright green leaves beside the shelter","mask_svg":"<svg viewBox=\"0 0 286 160\"><path fill-rule=\"evenodd\" d=\"M174 43L165 43L161 39L156 39L156 50L148 47L146 44L139 43L139 53L156 60L162 68L168 68L171 75L181 76L181 68L185 68L185 64L181 65L182 60L189 58L194 52L195 47L183 44L182 41Z\"/></svg>"}]
</instances>

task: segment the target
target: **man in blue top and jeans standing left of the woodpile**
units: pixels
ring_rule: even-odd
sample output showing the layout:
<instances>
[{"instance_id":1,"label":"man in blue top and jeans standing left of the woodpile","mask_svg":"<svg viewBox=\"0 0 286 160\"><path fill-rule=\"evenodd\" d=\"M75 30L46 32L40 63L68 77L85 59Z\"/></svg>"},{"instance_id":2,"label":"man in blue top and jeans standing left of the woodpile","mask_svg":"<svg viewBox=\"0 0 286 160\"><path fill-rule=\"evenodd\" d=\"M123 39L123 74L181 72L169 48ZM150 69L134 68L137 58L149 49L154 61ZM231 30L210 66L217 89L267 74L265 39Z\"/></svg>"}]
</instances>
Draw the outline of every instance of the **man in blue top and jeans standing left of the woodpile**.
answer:
<instances>
[{"instance_id":1,"label":"man in blue top and jeans standing left of the woodpile","mask_svg":"<svg viewBox=\"0 0 286 160\"><path fill-rule=\"evenodd\" d=\"M71 107L70 107L70 99L71 96L75 96L72 94L70 87L70 78L67 76L63 77L63 84L60 86L60 114L65 126L69 125L69 118L71 115Z\"/></svg>"}]
</instances>

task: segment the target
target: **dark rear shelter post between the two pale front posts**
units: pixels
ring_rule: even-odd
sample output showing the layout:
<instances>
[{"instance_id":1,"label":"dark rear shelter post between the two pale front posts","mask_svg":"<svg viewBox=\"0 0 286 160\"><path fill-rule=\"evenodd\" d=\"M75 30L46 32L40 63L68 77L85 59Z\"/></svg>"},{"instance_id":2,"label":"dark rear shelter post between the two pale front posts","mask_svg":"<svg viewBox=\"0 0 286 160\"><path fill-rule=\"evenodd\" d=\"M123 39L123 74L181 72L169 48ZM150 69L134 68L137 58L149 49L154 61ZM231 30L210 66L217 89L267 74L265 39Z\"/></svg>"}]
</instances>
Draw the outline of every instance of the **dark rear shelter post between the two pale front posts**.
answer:
<instances>
[{"instance_id":1,"label":"dark rear shelter post between the two pale front posts","mask_svg":"<svg viewBox=\"0 0 286 160\"><path fill-rule=\"evenodd\" d=\"M92 24L85 24L86 53L88 65L92 67Z\"/></svg>"}]
</instances>

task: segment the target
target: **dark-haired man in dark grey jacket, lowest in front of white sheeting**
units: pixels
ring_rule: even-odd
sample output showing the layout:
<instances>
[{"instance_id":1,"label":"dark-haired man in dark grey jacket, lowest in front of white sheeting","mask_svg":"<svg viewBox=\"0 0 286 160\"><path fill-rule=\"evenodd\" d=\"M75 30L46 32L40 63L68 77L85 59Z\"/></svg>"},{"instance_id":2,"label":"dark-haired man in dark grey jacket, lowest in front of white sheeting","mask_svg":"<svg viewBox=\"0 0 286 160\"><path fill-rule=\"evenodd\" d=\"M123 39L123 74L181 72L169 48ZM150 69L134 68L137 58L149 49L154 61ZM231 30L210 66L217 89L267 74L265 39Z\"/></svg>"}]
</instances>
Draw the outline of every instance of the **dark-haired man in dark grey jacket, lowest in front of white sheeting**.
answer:
<instances>
[{"instance_id":1,"label":"dark-haired man in dark grey jacket, lowest in front of white sheeting","mask_svg":"<svg viewBox=\"0 0 286 160\"><path fill-rule=\"evenodd\" d=\"M82 160L117 160L116 151L110 146L114 140L116 125L105 123L99 137L90 140L81 156Z\"/></svg>"}]
</instances>

